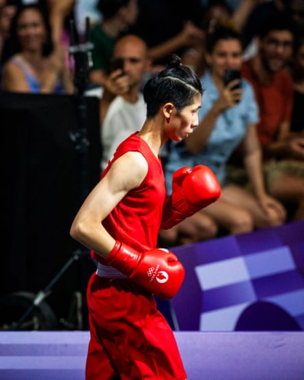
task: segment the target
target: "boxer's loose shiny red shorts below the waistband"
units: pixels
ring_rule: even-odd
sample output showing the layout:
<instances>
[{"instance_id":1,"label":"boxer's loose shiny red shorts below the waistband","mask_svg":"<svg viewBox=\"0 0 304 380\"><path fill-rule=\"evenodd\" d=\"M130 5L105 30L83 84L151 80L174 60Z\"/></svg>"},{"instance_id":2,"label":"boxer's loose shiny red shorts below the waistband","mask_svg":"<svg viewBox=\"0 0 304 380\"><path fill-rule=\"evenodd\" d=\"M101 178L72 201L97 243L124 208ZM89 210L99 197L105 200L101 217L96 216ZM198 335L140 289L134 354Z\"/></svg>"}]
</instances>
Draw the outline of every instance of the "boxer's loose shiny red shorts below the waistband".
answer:
<instances>
[{"instance_id":1,"label":"boxer's loose shiny red shorts below the waistband","mask_svg":"<svg viewBox=\"0 0 304 380\"><path fill-rule=\"evenodd\" d=\"M86 380L185 380L173 331L150 292L126 279L92 275Z\"/></svg>"}]
</instances>

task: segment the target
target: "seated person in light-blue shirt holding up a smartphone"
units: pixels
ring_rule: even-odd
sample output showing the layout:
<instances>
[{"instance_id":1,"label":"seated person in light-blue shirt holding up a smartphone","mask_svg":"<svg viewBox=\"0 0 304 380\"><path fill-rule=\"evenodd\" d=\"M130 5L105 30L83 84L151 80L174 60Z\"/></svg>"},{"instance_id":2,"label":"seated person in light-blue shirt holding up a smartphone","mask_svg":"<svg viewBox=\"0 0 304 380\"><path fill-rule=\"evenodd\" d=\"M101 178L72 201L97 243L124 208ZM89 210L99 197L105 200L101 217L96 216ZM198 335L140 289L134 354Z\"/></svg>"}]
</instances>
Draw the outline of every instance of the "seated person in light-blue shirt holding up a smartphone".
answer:
<instances>
[{"instance_id":1,"label":"seated person in light-blue shirt holding up a smartphone","mask_svg":"<svg viewBox=\"0 0 304 380\"><path fill-rule=\"evenodd\" d=\"M200 213L212 218L220 230L239 234L278 226L286 211L264 187L262 150L255 131L258 107L251 85L239 74L243 63L240 34L219 26L208 36L206 49L208 70L201 79L204 94L199 126L184 141L171 144L165 167L167 189L171 191L171 176L177 167L204 164L216 174L222 194ZM238 147L252 192L227 178L227 162Z\"/></svg>"}]
</instances>

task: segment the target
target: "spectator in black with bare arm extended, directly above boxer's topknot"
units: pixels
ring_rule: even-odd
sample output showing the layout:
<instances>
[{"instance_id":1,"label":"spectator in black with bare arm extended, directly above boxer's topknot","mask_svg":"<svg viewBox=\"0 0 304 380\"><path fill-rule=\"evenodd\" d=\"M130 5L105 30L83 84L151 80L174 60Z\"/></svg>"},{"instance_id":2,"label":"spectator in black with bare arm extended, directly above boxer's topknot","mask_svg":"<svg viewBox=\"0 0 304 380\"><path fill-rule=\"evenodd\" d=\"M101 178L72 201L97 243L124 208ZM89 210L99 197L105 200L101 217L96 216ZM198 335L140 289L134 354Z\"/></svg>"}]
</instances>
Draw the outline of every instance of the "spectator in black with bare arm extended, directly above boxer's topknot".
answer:
<instances>
[{"instance_id":1,"label":"spectator in black with bare arm extended, directly above boxer's topknot","mask_svg":"<svg viewBox=\"0 0 304 380\"><path fill-rule=\"evenodd\" d=\"M170 53L183 64L196 68L204 40L201 23L204 9L200 0L139 0L139 15L132 31L148 44L155 66L163 65ZM198 51L197 51L198 49Z\"/></svg>"}]
</instances>

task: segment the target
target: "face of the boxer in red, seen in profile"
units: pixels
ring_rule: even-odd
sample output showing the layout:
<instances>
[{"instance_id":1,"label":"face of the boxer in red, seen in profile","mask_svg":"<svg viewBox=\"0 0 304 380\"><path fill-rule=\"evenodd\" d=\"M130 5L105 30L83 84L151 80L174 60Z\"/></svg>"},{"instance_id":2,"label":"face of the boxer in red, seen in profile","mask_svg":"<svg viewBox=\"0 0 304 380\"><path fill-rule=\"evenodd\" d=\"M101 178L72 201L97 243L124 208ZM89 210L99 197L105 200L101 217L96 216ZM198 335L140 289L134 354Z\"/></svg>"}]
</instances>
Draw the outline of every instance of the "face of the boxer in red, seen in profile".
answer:
<instances>
[{"instance_id":1,"label":"face of the boxer in red, seen in profile","mask_svg":"<svg viewBox=\"0 0 304 380\"><path fill-rule=\"evenodd\" d=\"M165 123L165 133L167 138L174 141L181 141L188 137L198 125L197 111L201 107L202 96L195 96L193 103L187 105L178 112L176 107L168 109L168 118Z\"/></svg>"}]
</instances>

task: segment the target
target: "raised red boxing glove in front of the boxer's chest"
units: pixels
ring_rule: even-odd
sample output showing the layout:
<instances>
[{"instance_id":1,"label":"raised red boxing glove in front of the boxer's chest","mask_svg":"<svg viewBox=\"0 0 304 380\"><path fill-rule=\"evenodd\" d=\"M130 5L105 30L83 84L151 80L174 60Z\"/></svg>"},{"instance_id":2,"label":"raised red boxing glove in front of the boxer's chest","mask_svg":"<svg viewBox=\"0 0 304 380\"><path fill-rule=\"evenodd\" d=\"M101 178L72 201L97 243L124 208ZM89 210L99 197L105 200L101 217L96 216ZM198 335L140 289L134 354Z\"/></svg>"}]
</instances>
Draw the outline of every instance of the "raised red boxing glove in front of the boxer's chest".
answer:
<instances>
[{"instance_id":1,"label":"raised red boxing glove in front of the boxer's chest","mask_svg":"<svg viewBox=\"0 0 304 380\"><path fill-rule=\"evenodd\" d=\"M221 186L209 167L181 167L172 176L172 193L165 201L161 228L167 230L219 199Z\"/></svg>"}]
</instances>

